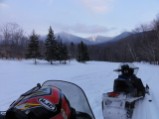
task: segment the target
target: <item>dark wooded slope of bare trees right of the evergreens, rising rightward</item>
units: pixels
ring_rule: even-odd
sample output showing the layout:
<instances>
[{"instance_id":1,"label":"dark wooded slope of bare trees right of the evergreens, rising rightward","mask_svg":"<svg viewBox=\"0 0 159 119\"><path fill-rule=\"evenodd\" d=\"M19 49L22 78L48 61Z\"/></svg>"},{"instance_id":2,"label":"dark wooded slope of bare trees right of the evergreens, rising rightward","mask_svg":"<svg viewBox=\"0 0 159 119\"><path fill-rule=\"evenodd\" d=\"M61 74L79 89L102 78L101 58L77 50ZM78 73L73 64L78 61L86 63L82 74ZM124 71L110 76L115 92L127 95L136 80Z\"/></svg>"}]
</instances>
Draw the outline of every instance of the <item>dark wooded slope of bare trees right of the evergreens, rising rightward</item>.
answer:
<instances>
[{"instance_id":1,"label":"dark wooded slope of bare trees right of the evergreens, rising rightward","mask_svg":"<svg viewBox=\"0 0 159 119\"><path fill-rule=\"evenodd\" d=\"M141 25L124 39L89 47L91 59L159 64L159 18Z\"/></svg>"}]
</instances>

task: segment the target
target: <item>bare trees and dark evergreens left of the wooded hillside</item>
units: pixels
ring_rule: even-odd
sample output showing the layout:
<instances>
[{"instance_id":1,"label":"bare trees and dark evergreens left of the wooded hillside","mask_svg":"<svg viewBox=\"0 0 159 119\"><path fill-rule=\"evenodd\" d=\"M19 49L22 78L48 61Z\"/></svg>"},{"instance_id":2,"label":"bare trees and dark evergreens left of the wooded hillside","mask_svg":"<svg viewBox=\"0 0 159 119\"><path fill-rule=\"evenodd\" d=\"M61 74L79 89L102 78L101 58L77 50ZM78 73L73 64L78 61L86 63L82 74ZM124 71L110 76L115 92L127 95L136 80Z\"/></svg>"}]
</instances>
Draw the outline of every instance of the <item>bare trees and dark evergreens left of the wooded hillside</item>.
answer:
<instances>
[{"instance_id":1,"label":"bare trees and dark evergreens left of the wooded hillside","mask_svg":"<svg viewBox=\"0 0 159 119\"><path fill-rule=\"evenodd\" d=\"M64 44L60 37L55 37L50 27L47 37L41 39L34 30L30 36L25 36L24 31L16 23L8 23L0 28L0 58L3 59L45 59L51 64L55 61L66 63L69 59L79 62L89 60L87 45Z\"/></svg>"}]
</instances>

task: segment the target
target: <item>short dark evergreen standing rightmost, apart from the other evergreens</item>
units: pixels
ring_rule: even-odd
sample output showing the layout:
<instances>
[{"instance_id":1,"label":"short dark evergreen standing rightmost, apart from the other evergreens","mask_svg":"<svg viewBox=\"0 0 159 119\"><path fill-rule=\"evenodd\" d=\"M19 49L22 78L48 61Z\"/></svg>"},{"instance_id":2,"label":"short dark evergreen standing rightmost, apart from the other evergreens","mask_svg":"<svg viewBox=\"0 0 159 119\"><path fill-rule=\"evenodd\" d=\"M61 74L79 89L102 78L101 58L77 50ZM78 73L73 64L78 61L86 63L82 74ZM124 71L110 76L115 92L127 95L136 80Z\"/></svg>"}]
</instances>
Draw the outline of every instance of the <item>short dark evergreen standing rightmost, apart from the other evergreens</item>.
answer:
<instances>
[{"instance_id":1,"label":"short dark evergreen standing rightmost, apart from the other evergreens","mask_svg":"<svg viewBox=\"0 0 159 119\"><path fill-rule=\"evenodd\" d=\"M87 45L85 45L83 42L81 42L78 45L77 61L85 62L85 61L88 61L88 60L89 60L89 54L88 54Z\"/></svg>"}]
</instances>

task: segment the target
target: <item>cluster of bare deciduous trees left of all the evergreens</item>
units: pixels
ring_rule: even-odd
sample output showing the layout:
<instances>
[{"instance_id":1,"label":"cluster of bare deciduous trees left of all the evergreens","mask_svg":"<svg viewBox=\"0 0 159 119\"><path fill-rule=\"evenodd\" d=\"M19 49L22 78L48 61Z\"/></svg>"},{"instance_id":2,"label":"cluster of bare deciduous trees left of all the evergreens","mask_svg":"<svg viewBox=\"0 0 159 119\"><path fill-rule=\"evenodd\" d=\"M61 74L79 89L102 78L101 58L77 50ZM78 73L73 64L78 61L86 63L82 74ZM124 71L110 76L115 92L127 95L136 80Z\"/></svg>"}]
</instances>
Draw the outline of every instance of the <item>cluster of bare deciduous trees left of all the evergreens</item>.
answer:
<instances>
[{"instance_id":1,"label":"cluster of bare deciduous trees left of all the evergreens","mask_svg":"<svg viewBox=\"0 0 159 119\"><path fill-rule=\"evenodd\" d=\"M7 23L0 27L0 33L2 36L1 54L5 58L21 58L23 46L26 43L22 28L16 23Z\"/></svg>"}]
</instances>

